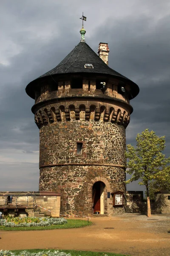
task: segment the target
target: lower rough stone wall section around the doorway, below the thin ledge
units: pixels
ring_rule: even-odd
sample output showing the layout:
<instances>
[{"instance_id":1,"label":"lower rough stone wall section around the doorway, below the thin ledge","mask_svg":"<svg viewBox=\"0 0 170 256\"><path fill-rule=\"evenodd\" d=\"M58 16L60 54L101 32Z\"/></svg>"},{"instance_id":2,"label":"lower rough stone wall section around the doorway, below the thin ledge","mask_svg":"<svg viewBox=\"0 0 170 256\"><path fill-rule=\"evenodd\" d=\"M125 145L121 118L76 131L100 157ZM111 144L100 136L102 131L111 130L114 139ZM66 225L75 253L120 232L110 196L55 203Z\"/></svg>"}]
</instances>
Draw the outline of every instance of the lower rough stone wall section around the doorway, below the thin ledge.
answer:
<instances>
[{"instance_id":1,"label":"lower rough stone wall section around the doorway, below the thin ledge","mask_svg":"<svg viewBox=\"0 0 170 256\"><path fill-rule=\"evenodd\" d=\"M111 166L56 166L40 168L40 189L61 192L61 214L87 214L92 211L92 179L100 176L110 185L110 192L125 192L125 169ZM113 198L107 198L105 190L105 213L122 212L125 209L113 207Z\"/></svg>"}]
</instances>

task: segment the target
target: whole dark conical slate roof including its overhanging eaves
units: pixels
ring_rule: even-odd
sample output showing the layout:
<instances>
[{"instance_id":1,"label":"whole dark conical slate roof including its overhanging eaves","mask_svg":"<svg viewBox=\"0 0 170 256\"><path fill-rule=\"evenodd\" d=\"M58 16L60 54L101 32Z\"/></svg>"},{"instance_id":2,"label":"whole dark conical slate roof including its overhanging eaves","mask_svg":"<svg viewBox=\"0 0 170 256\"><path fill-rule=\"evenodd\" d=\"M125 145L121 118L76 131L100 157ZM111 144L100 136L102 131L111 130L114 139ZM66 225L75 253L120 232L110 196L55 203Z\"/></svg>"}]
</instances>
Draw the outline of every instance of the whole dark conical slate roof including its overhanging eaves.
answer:
<instances>
[{"instance_id":1,"label":"whole dark conical slate roof including its overhanging eaves","mask_svg":"<svg viewBox=\"0 0 170 256\"><path fill-rule=\"evenodd\" d=\"M92 64L94 68L85 68L85 64ZM131 84L131 99L136 97L139 93L139 87L137 84L108 67L108 65L102 61L91 47L82 41L77 44L77 46L57 65L57 67L54 67L54 69L48 71L34 81L31 81L26 87L26 93L34 99L34 86L37 84L39 79L67 73L96 73L101 75L111 75Z\"/></svg>"}]
</instances>

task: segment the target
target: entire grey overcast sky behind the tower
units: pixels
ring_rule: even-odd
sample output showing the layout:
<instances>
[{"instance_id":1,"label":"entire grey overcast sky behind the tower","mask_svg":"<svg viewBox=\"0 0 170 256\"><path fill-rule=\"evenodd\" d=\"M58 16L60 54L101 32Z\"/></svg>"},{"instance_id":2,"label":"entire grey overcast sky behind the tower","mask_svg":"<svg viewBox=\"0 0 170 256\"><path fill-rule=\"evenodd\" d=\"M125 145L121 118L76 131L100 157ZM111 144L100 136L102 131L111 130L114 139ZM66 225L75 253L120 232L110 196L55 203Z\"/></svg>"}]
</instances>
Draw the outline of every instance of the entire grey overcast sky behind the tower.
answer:
<instances>
[{"instance_id":1,"label":"entire grey overcast sky behind the tower","mask_svg":"<svg viewBox=\"0 0 170 256\"><path fill-rule=\"evenodd\" d=\"M86 43L97 52L107 42L109 66L139 85L127 144L149 128L170 155L169 0L1 0L0 191L38 190L39 129L25 88L79 43L82 12Z\"/></svg>"}]
</instances>

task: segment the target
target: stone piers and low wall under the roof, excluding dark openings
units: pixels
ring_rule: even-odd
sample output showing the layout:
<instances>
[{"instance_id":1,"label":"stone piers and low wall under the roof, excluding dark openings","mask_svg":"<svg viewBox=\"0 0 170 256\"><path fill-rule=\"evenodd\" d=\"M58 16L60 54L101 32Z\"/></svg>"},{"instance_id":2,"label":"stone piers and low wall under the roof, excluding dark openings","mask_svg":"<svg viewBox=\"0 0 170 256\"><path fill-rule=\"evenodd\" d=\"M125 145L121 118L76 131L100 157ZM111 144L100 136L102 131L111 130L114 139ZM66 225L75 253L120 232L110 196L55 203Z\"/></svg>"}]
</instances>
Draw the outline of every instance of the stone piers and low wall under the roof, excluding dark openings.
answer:
<instances>
[{"instance_id":1,"label":"stone piers and low wall under the roof, excluding dark openings","mask_svg":"<svg viewBox=\"0 0 170 256\"><path fill-rule=\"evenodd\" d=\"M115 99L121 99L124 102L129 103L128 97L118 93L119 80L113 78L102 78L103 82L106 82L106 90L104 95ZM58 80L58 79L57 79ZM125 84L125 88L128 90L129 85ZM102 85L101 85L102 87ZM103 96L100 89L96 89L96 79L93 77L84 77L82 79L82 85L79 84L77 89L71 88L71 80L68 77L62 79L62 81L41 81L39 84L39 92L35 93L35 103L42 102L49 99L56 99L63 96L73 96L75 92L77 95L81 96ZM130 89L129 89L130 90Z\"/></svg>"}]
</instances>

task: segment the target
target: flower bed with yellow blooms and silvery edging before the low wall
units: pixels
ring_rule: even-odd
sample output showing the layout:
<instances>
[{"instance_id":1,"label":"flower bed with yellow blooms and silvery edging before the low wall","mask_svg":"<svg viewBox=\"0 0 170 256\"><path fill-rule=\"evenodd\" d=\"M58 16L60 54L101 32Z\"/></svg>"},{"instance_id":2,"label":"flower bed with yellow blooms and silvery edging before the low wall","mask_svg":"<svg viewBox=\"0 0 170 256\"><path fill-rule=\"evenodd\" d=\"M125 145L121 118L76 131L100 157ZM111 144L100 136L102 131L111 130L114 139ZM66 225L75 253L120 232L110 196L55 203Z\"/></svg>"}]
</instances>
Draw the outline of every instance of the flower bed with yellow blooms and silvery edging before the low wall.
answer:
<instances>
[{"instance_id":1,"label":"flower bed with yellow blooms and silvery edging before the low wall","mask_svg":"<svg viewBox=\"0 0 170 256\"><path fill-rule=\"evenodd\" d=\"M0 220L0 226L4 227L46 227L51 225L64 225L68 221L65 218L20 218L6 217Z\"/></svg>"}]
</instances>

